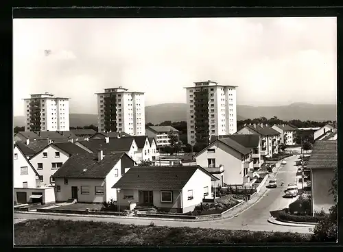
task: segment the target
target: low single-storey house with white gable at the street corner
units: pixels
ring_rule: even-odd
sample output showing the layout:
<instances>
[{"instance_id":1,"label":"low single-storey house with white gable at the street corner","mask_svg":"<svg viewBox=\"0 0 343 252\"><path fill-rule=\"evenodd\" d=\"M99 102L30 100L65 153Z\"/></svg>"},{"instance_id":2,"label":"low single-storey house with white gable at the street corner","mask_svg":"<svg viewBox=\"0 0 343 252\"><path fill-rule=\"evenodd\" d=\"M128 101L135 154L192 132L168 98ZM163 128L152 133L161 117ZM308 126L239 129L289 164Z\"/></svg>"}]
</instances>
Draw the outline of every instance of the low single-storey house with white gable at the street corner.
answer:
<instances>
[{"instance_id":1,"label":"low single-storey house with white gable at the street corner","mask_svg":"<svg viewBox=\"0 0 343 252\"><path fill-rule=\"evenodd\" d=\"M132 167L112 188L119 190L119 207L130 203L153 205L165 212L189 212L203 199L211 199L211 181L200 166Z\"/></svg>"}]
</instances>

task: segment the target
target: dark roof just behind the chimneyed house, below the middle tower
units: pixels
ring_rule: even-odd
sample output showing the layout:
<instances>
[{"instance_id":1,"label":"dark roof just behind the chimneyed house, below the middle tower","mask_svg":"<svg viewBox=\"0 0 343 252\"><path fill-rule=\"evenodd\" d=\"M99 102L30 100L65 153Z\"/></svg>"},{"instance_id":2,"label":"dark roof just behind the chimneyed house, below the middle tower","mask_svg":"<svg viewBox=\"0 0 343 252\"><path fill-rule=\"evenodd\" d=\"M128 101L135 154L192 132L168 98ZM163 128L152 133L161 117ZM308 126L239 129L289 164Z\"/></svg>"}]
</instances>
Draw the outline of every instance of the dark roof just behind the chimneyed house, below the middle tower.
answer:
<instances>
[{"instance_id":1,"label":"dark roof just behind the chimneyed house, below the middle tower","mask_svg":"<svg viewBox=\"0 0 343 252\"><path fill-rule=\"evenodd\" d=\"M94 153L101 149L106 154L113 151L130 151L132 141L132 138L110 138L108 144L104 139L90 139L89 141L79 142Z\"/></svg>"}]
</instances>

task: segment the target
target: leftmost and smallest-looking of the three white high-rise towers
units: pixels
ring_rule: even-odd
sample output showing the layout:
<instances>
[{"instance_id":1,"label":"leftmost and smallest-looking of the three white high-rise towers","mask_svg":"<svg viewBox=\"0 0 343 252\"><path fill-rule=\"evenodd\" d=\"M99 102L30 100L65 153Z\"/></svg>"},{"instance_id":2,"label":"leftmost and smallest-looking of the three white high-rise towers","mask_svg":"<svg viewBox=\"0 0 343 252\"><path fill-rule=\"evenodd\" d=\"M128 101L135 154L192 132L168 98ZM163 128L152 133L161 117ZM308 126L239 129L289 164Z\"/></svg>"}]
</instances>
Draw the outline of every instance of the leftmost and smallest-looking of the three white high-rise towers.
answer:
<instances>
[{"instance_id":1,"label":"leftmost and smallest-looking of the three white high-rise towers","mask_svg":"<svg viewBox=\"0 0 343 252\"><path fill-rule=\"evenodd\" d=\"M69 98L45 92L23 100L25 131L69 131Z\"/></svg>"}]
</instances>

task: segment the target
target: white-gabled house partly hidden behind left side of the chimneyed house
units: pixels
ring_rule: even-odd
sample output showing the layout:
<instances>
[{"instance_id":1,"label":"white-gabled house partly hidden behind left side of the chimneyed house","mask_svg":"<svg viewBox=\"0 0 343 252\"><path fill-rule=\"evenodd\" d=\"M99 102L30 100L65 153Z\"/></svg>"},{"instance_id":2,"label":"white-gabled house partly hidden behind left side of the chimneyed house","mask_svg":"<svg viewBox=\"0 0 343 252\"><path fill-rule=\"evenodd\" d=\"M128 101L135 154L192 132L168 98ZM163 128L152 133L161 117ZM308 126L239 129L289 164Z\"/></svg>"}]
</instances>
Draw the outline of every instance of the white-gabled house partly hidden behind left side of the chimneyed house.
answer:
<instances>
[{"instance_id":1,"label":"white-gabled house partly hidden behind left side of the chimneyed house","mask_svg":"<svg viewBox=\"0 0 343 252\"><path fill-rule=\"evenodd\" d=\"M58 171L71 155L88 153L71 142L53 142L30 157L29 162L36 168L43 185L54 184L51 177Z\"/></svg>"}]
</instances>

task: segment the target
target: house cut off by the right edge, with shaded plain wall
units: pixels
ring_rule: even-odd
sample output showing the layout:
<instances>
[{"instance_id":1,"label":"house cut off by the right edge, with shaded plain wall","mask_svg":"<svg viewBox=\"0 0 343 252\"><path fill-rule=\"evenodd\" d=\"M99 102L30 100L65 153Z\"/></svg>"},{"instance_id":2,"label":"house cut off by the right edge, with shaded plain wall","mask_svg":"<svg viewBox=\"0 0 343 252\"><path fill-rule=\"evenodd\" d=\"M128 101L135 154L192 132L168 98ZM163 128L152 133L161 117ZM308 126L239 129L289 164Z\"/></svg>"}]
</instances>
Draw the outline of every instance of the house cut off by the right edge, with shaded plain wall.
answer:
<instances>
[{"instance_id":1,"label":"house cut off by the right edge, with shaded plain wall","mask_svg":"<svg viewBox=\"0 0 343 252\"><path fill-rule=\"evenodd\" d=\"M312 213L329 212L335 204L330 192L338 168L337 140L316 141L307 168L311 170Z\"/></svg>"}]
</instances>

